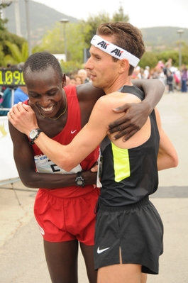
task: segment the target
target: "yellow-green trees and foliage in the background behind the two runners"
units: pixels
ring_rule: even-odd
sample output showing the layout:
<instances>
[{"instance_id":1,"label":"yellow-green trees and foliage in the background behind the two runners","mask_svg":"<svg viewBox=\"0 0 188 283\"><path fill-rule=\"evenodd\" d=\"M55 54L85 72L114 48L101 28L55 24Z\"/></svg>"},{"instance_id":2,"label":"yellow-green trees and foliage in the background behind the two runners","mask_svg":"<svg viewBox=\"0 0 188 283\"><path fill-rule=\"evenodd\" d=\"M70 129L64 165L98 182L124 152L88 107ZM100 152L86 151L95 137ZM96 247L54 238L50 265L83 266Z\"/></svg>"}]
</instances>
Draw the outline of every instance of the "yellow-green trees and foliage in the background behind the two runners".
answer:
<instances>
[{"instance_id":1,"label":"yellow-green trees and foliage in the background behind the two runners","mask_svg":"<svg viewBox=\"0 0 188 283\"><path fill-rule=\"evenodd\" d=\"M4 4L0 4L0 9ZM87 21L79 23L66 24L66 43L67 43L67 62L61 62L62 70L65 73L72 72L82 68L84 59L84 48L90 47L90 41L96 34L96 28L100 23L108 21L129 21L128 15L123 12L120 6L113 16L109 13L99 13L96 16L89 16ZM28 57L28 43L25 38L9 33L5 28L7 20L0 18L0 66L6 67L7 63L15 65L19 62L25 62ZM65 50L65 38L62 23L55 23L52 30L48 30L41 40L41 43L35 46L32 52L48 51L52 54L62 54ZM155 67L159 60L166 62L172 58L173 65L178 66L179 51L178 42L176 50L159 52L145 52L140 60L140 67ZM188 65L188 46L182 42L182 63Z\"/></svg>"}]
</instances>

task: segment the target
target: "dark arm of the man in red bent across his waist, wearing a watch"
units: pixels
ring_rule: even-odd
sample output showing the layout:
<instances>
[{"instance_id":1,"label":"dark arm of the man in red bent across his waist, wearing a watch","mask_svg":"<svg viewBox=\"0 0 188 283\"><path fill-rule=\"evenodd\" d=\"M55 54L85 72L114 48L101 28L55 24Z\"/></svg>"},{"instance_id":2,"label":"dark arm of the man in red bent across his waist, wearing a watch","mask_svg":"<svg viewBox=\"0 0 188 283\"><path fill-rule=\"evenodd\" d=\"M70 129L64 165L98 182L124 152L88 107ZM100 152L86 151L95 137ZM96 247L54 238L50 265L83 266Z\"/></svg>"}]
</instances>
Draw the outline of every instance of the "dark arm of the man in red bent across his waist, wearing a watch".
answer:
<instances>
[{"instance_id":1,"label":"dark arm of the man in red bent across his waist, wearing a watch","mask_svg":"<svg viewBox=\"0 0 188 283\"><path fill-rule=\"evenodd\" d=\"M13 157L18 174L26 187L57 189L75 185L76 174L48 174L35 172L33 150L28 138L9 123L9 130L13 141ZM96 184L96 173L82 172L85 184Z\"/></svg>"}]
</instances>

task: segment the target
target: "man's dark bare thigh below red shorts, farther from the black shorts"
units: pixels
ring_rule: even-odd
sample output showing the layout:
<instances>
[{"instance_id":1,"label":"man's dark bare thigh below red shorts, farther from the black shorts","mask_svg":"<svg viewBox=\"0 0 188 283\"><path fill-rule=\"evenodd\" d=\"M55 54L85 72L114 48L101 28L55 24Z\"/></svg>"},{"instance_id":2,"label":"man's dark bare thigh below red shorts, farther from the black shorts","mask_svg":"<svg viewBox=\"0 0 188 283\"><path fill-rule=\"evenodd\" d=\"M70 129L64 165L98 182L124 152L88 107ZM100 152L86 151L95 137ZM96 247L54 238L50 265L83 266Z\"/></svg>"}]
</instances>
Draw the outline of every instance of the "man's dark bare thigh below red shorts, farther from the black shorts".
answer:
<instances>
[{"instance_id":1,"label":"man's dark bare thigh below red shorts, farther from the black shorts","mask_svg":"<svg viewBox=\"0 0 188 283\"><path fill-rule=\"evenodd\" d=\"M60 243L44 240L44 249L52 283L77 283L77 240Z\"/></svg>"}]
</instances>

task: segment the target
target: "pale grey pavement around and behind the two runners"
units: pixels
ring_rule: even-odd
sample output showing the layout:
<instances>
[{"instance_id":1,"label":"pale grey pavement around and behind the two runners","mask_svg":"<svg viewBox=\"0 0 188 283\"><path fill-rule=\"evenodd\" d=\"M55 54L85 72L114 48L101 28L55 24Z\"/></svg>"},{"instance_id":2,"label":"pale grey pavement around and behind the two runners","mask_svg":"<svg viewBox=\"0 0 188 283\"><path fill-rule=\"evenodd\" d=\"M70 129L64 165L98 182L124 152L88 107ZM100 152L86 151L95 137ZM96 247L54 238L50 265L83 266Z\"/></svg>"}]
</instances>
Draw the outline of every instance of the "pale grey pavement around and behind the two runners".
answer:
<instances>
[{"instance_id":1,"label":"pale grey pavement around and behind the two runners","mask_svg":"<svg viewBox=\"0 0 188 283\"><path fill-rule=\"evenodd\" d=\"M187 106L188 93L181 92L165 93L157 106L179 165L160 172L159 189L150 198L165 226L165 248L160 274L149 275L148 283L188 283ZM33 217L35 193L21 182L0 187L0 283L50 283L43 239ZM79 283L87 282L79 253Z\"/></svg>"}]
</instances>

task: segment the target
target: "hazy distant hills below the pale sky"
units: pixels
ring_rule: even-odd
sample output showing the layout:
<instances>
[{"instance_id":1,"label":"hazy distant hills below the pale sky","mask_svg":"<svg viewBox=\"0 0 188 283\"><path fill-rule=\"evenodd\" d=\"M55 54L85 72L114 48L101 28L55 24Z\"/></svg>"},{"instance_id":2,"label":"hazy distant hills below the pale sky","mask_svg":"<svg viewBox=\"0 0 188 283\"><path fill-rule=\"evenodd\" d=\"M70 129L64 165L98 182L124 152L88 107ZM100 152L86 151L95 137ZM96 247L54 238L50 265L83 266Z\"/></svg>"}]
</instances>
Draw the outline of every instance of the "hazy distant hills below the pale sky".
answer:
<instances>
[{"instance_id":1,"label":"hazy distant hills below the pale sky","mask_svg":"<svg viewBox=\"0 0 188 283\"><path fill-rule=\"evenodd\" d=\"M35 1L28 1L29 7L29 20L31 28L31 45L37 45L40 43L40 39L46 30L50 30L54 27L55 22L60 21L61 18L67 18L72 23L77 23L79 20L71 16L67 16L63 13L51 9L44 4L37 3ZM19 13L20 17L15 17L15 4L12 3L5 9L5 17L8 18L7 28L11 33L16 33L16 20L20 21L21 35L27 38L27 25L26 25L26 1L19 0ZM20 18L20 20L19 20ZM177 48L177 42L179 40L179 34L177 34L178 27L156 27L156 28L143 28L143 39L146 48L148 46L155 46L161 49L165 48ZM184 28L182 34L182 41L188 44L188 28ZM163 48L162 48L163 46Z\"/></svg>"}]
</instances>

